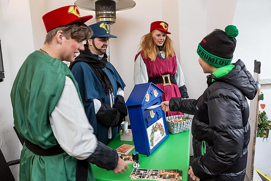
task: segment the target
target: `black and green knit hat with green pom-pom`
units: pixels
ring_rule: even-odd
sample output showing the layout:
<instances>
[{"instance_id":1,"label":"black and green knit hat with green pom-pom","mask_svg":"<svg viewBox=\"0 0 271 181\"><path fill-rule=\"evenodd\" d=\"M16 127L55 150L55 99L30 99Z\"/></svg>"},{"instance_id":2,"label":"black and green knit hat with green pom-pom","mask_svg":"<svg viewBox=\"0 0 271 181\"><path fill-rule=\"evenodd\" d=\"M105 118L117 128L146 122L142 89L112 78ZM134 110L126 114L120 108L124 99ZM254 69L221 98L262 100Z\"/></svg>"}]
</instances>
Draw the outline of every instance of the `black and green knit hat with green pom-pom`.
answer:
<instances>
[{"instance_id":1,"label":"black and green knit hat with green pom-pom","mask_svg":"<svg viewBox=\"0 0 271 181\"><path fill-rule=\"evenodd\" d=\"M225 31L214 29L198 44L197 53L208 64L220 68L230 65L236 46L238 29L228 25Z\"/></svg>"}]
</instances>

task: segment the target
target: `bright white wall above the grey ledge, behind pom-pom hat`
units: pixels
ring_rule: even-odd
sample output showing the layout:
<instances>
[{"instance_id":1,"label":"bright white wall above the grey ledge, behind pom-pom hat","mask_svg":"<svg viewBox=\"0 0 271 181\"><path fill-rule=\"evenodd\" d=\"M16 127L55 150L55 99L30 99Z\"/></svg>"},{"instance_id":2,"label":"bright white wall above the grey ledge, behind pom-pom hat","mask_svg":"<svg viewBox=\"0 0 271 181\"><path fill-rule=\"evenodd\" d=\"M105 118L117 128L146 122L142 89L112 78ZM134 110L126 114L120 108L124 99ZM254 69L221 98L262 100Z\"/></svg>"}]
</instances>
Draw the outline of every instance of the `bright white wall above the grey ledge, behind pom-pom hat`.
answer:
<instances>
[{"instance_id":1,"label":"bright white wall above the grey ledge, behind pom-pom hat","mask_svg":"<svg viewBox=\"0 0 271 181\"><path fill-rule=\"evenodd\" d=\"M233 59L245 62L250 72L254 60L261 62L260 79L270 76L271 1L238 0L233 24L238 28L237 44Z\"/></svg>"}]
</instances>

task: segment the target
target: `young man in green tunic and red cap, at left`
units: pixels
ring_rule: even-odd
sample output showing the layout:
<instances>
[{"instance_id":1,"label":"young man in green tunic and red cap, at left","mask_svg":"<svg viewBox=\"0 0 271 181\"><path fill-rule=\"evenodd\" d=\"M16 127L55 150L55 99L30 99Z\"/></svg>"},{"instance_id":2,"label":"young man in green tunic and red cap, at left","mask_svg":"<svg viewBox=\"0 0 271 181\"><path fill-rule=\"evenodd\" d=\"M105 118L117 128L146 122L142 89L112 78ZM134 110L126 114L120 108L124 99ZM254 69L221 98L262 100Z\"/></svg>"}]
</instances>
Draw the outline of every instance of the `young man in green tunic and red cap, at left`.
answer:
<instances>
[{"instance_id":1,"label":"young man in green tunic and red cap, at left","mask_svg":"<svg viewBox=\"0 0 271 181\"><path fill-rule=\"evenodd\" d=\"M62 61L73 62L92 35L77 6L45 14L45 44L21 66L12 90L14 125L25 144L20 180L94 181L91 164L120 173L116 150L97 141L84 112L78 84Z\"/></svg>"}]
</instances>

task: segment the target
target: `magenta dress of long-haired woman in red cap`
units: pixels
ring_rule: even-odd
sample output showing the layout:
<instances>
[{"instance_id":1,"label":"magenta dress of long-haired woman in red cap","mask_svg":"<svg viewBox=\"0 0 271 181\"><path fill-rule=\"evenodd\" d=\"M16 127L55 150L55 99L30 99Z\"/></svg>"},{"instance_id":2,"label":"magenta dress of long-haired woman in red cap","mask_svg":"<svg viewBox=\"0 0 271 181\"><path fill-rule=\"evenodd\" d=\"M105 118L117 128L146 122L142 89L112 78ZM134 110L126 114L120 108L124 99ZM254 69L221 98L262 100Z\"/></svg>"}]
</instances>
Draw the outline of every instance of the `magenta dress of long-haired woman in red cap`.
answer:
<instances>
[{"instance_id":1,"label":"magenta dress of long-haired woman in red cap","mask_svg":"<svg viewBox=\"0 0 271 181\"><path fill-rule=\"evenodd\" d=\"M170 76L174 76L176 72L176 68L177 68L176 56L173 56L172 58L168 58L168 59L162 59L157 56L155 61L151 62L149 58L143 58L144 52L139 52L136 55L136 58L139 54L141 54L141 57L146 65L149 78L162 77L162 75L168 75L168 74ZM155 85L157 85L159 88L165 91L165 93L162 94L163 101L169 101L172 97L181 97L179 87L176 84L164 86L164 84L162 83L162 84L155 84ZM166 113L166 116L173 116L173 115L183 115L183 113L172 112L172 111L168 111Z\"/></svg>"}]
</instances>

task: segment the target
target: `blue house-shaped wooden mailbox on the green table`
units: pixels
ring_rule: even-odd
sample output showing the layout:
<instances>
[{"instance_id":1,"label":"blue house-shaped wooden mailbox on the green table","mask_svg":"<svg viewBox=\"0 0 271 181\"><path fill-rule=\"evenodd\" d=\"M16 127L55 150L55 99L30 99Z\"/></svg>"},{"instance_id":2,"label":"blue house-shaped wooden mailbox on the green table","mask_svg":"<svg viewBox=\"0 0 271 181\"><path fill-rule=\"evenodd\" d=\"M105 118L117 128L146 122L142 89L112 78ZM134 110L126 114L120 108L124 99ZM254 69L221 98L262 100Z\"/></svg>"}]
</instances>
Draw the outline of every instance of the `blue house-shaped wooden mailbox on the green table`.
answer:
<instances>
[{"instance_id":1,"label":"blue house-shaped wooden mailbox on the green table","mask_svg":"<svg viewBox=\"0 0 271 181\"><path fill-rule=\"evenodd\" d=\"M153 83L137 84L125 104L135 148L140 154L150 156L168 137L165 112L159 106L162 93Z\"/></svg>"}]
</instances>

